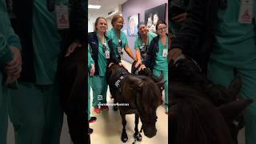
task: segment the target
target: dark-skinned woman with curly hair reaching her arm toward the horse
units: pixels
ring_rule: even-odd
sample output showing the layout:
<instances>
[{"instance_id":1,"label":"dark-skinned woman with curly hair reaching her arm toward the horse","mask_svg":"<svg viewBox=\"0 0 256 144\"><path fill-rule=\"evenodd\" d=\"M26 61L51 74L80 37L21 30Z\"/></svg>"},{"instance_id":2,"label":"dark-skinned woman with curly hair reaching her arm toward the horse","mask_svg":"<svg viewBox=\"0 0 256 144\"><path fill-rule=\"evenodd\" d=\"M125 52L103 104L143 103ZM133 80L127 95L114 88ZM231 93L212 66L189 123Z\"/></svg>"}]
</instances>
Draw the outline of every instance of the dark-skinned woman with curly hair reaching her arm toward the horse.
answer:
<instances>
[{"instance_id":1,"label":"dark-skinned woman with curly hair reaching her arm toward the horse","mask_svg":"<svg viewBox=\"0 0 256 144\"><path fill-rule=\"evenodd\" d=\"M112 18L111 24L113 28L108 31L107 37L110 38L113 42L114 53L116 57L121 60L122 49L126 50L126 53L130 56L131 59L137 61L137 66L142 63L140 54L136 53L136 58L134 58L133 52L130 50L128 45L127 36L122 32L124 19L120 15L114 15ZM137 67L136 66L136 67Z\"/></svg>"}]
</instances>

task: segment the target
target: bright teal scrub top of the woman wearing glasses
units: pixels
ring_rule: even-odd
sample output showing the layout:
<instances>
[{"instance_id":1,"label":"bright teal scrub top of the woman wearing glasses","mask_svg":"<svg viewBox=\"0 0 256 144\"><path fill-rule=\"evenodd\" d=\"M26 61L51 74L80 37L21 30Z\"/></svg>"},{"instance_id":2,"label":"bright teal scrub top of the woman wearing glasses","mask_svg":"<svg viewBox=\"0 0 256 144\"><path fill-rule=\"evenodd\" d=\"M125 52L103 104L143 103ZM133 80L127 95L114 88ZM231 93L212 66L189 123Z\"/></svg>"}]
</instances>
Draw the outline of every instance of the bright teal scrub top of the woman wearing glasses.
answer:
<instances>
[{"instance_id":1,"label":"bright teal scrub top of the woman wearing glasses","mask_svg":"<svg viewBox=\"0 0 256 144\"><path fill-rule=\"evenodd\" d=\"M157 53L157 58L155 60L154 69L156 69L156 70L168 70L168 60L167 60L168 55L166 55L166 57L162 57L162 53L163 53L164 49L166 49L167 54L168 54L167 46L168 46L168 38L166 38L166 46L162 45L162 42L161 42L160 39L158 40L159 51Z\"/></svg>"}]
</instances>

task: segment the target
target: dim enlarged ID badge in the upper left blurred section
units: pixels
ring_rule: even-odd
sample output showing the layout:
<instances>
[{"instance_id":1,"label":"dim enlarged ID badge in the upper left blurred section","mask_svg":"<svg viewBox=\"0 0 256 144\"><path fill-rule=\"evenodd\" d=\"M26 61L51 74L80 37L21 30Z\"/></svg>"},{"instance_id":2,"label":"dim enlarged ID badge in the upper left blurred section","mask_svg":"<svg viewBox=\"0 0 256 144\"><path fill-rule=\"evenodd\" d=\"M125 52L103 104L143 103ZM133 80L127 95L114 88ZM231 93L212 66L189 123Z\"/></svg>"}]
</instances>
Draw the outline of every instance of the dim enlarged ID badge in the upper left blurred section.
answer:
<instances>
[{"instance_id":1,"label":"dim enlarged ID badge in the upper left blurred section","mask_svg":"<svg viewBox=\"0 0 256 144\"><path fill-rule=\"evenodd\" d=\"M57 25L58 29L69 29L70 28L70 20L69 20L69 8L68 6L58 5L55 6L56 14L57 14Z\"/></svg>"}]
</instances>

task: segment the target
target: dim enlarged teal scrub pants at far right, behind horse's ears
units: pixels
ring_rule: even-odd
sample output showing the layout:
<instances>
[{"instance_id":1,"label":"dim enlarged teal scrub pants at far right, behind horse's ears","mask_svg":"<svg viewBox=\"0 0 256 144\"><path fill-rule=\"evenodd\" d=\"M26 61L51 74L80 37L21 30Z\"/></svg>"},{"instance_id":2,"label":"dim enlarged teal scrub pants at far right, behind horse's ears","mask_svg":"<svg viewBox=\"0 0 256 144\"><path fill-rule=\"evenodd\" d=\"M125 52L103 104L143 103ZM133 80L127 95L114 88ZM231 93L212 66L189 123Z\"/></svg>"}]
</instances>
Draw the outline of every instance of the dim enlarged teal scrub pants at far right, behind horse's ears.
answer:
<instances>
[{"instance_id":1,"label":"dim enlarged teal scrub pants at far right, behind horse's ears","mask_svg":"<svg viewBox=\"0 0 256 144\"><path fill-rule=\"evenodd\" d=\"M236 74L234 73L236 70ZM244 66L234 67L226 66L221 63L210 60L208 65L208 78L215 84L230 86L230 82L236 77L242 78L242 89L240 94L242 98L256 99L256 59ZM246 122L246 144L255 144L256 142L256 103L253 102L244 110Z\"/></svg>"}]
</instances>

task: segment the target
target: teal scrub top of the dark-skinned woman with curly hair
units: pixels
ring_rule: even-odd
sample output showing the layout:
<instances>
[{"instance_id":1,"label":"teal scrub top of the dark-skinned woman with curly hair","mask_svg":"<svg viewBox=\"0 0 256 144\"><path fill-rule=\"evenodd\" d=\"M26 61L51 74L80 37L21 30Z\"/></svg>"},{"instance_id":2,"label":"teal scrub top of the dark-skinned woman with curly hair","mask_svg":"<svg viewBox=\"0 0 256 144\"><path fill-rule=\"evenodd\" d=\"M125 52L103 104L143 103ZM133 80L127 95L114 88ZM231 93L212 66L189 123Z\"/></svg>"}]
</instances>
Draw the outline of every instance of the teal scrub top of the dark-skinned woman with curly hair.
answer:
<instances>
[{"instance_id":1,"label":"teal scrub top of the dark-skinned woman with curly hair","mask_svg":"<svg viewBox=\"0 0 256 144\"><path fill-rule=\"evenodd\" d=\"M114 48L114 53L117 55L117 56L120 56L120 54L118 53L118 39L120 39L122 41L122 49L125 47L125 46L128 46L128 40L127 40L127 37L126 37L126 34L121 31L121 34L120 34L120 38L118 38L118 36L115 34L115 30L114 28L112 28L110 31L107 32L107 37L110 38L113 42L113 48Z\"/></svg>"}]
</instances>

